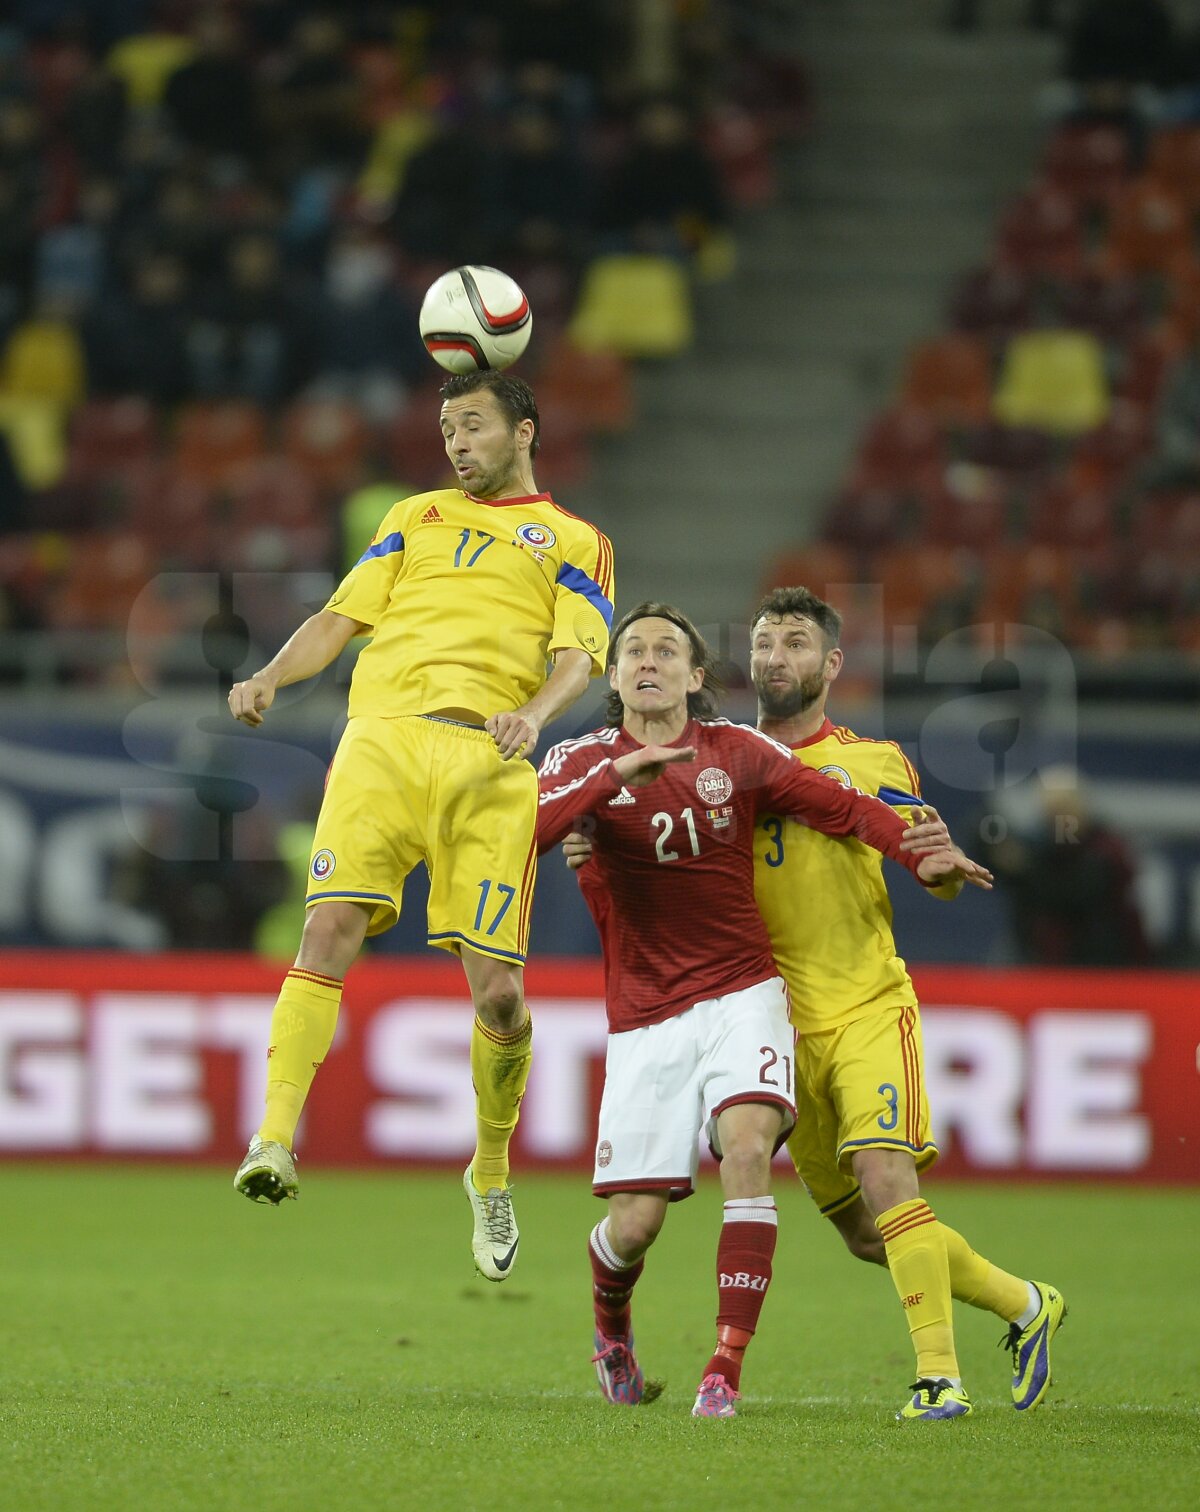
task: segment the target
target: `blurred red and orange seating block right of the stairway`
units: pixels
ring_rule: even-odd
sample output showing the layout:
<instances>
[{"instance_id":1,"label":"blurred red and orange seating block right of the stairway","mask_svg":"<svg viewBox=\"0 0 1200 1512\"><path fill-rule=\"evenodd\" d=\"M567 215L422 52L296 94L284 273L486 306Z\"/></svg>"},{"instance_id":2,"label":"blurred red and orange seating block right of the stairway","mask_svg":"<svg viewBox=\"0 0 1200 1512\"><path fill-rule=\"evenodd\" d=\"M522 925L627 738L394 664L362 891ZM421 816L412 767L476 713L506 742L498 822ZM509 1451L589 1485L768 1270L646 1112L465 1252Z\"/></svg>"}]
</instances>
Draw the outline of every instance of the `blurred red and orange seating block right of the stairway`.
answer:
<instances>
[{"instance_id":1,"label":"blurred red and orange seating block right of the stairway","mask_svg":"<svg viewBox=\"0 0 1200 1512\"><path fill-rule=\"evenodd\" d=\"M1031 181L868 426L822 541L768 578L881 584L925 644L1014 623L1114 662L1194 653L1200 26L1162 0L1031 18L1064 29Z\"/></svg>"}]
</instances>

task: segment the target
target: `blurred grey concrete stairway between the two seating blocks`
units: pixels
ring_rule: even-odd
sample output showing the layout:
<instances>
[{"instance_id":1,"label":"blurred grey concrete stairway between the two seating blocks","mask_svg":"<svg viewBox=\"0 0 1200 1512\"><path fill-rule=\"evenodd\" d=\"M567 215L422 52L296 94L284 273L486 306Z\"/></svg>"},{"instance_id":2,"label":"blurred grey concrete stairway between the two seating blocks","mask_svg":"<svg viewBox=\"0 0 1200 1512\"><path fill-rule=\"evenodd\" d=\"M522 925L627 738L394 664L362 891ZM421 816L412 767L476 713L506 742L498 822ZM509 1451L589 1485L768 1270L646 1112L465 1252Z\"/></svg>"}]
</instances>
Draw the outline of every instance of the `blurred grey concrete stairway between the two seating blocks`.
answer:
<instances>
[{"instance_id":1,"label":"blurred grey concrete stairway between the two seating blocks","mask_svg":"<svg viewBox=\"0 0 1200 1512\"><path fill-rule=\"evenodd\" d=\"M573 491L612 531L618 611L665 597L709 627L745 621L769 555L818 531L1034 165L1059 44L1023 26L1026 3L982 0L967 35L945 0L796 5L816 125L778 203L739 224L735 278L700 292L695 349L639 367L635 432Z\"/></svg>"}]
</instances>

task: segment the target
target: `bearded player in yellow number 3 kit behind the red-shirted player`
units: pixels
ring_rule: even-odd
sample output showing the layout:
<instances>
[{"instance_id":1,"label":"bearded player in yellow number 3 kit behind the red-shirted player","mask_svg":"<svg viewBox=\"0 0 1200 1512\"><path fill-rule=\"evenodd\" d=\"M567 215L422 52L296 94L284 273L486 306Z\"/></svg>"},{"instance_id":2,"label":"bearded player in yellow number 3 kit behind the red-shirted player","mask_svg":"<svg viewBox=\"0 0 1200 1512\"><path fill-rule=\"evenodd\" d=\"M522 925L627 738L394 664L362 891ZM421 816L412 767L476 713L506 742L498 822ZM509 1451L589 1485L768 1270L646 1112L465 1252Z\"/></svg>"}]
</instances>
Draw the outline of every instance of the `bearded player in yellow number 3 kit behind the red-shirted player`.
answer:
<instances>
[{"instance_id":1,"label":"bearded player in yellow number 3 kit behind the red-shirted player","mask_svg":"<svg viewBox=\"0 0 1200 1512\"><path fill-rule=\"evenodd\" d=\"M842 667L840 614L807 588L777 588L754 612L751 677L759 729L796 761L902 813L923 809L917 774L890 741L860 739L830 721L825 700ZM917 815L919 816L919 815ZM957 897L961 881L931 888ZM1008 1323L1013 1405L1035 1408L1050 1383L1050 1340L1065 1306L1044 1282L990 1264L920 1196L917 1173L937 1158L925 1096L916 993L896 956L880 856L795 820L757 824L754 889L792 998L796 1172L851 1253L887 1266L917 1356L902 1420L966 1417L951 1297Z\"/></svg>"}]
</instances>

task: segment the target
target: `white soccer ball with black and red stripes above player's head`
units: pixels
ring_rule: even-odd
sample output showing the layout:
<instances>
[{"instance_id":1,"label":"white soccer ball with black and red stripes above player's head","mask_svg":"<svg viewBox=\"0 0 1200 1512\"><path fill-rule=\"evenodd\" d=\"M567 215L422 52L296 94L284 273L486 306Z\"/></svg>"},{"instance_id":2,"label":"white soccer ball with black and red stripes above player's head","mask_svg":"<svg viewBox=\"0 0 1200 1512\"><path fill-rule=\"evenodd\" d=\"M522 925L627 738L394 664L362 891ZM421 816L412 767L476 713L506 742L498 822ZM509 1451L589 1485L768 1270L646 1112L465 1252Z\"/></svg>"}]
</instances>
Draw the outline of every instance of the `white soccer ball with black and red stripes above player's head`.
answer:
<instances>
[{"instance_id":1,"label":"white soccer ball with black and red stripes above player's head","mask_svg":"<svg viewBox=\"0 0 1200 1512\"><path fill-rule=\"evenodd\" d=\"M437 278L420 307L425 349L452 373L508 367L529 345L529 301L499 268L452 268Z\"/></svg>"}]
</instances>

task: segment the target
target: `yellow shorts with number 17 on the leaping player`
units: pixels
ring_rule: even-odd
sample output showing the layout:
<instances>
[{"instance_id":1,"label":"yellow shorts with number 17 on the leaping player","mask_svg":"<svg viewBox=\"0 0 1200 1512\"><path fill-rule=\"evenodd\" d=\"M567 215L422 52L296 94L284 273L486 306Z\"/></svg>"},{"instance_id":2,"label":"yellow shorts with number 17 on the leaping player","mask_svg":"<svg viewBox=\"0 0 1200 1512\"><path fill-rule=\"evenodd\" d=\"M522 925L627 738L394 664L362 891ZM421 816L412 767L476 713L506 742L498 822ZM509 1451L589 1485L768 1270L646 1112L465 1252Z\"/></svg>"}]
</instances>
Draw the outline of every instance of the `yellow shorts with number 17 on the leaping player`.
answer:
<instances>
[{"instance_id":1,"label":"yellow shorts with number 17 on the leaping player","mask_svg":"<svg viewBox=\"0 0 1200 1512\"><path fill-rule=\"evenodd\" d=\"M404 880L423 860L429 943L520 963L537 818L537 773L527 761L500 761L487 730L358 715L329 768L305 903L361 903L372 910L367 934L379 934L399 918Z\"/></svg>"}]
</instances>

